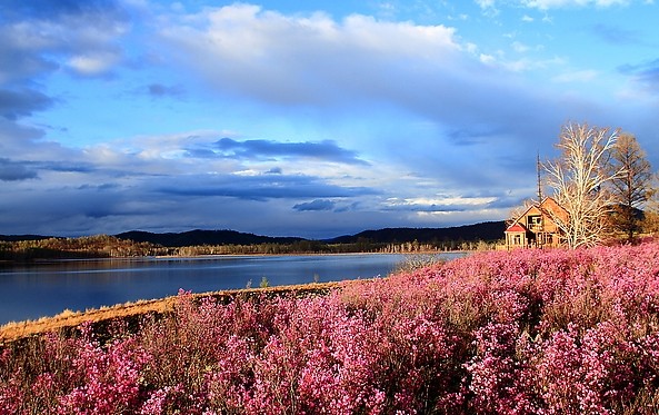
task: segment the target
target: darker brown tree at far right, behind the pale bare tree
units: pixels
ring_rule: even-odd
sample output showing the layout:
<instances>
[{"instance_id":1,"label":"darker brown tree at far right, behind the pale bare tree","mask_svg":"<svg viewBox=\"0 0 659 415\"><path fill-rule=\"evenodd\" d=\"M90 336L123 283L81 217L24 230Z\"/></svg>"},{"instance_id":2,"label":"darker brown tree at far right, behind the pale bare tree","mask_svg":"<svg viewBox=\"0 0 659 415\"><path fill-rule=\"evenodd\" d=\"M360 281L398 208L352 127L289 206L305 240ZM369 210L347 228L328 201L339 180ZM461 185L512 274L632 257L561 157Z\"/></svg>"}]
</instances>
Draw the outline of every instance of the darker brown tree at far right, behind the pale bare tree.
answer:
<instances>
[{"instance_id":1,"label":"darker brown tree at far right, behind the pale bare tree","mask_svg":"<svg viewBox=\"0 0 659 415\"><path fill-rule=\"evenodd\" d=\"M651 194L652 172L646 152L636 137L621 134L611 149L609 171L619 175L611 179L611 192L615 201L613 226L627 235L629 243L640 229L639 207Z\"/></svg>"}]
</instances>

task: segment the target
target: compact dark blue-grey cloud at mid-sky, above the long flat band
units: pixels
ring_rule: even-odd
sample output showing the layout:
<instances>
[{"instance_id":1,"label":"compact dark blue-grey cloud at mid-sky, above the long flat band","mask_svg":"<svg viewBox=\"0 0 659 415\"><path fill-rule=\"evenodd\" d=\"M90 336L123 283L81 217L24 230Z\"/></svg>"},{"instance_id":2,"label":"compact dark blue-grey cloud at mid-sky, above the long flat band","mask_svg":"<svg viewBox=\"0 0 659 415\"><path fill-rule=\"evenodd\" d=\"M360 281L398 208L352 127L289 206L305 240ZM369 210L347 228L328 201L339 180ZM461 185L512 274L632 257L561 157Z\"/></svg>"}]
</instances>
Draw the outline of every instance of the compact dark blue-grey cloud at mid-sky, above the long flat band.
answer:
<instances>
[{"instance_id":1,"label":"compact dark blue-grey cloud at mid-sky, above the long flat band","mask_svg":"<svg viewBox=\"0 0 659 415\"><path fill-rule=\"evenodd\" d=\"M278 142L273 140L237 141L231 138L222 138L216 142L216 149L223 157L309 157L348 165L369 165L367 161L358 158L357 152L341 148L331 140L320 142Z\"/></svg>"}]
</instances>

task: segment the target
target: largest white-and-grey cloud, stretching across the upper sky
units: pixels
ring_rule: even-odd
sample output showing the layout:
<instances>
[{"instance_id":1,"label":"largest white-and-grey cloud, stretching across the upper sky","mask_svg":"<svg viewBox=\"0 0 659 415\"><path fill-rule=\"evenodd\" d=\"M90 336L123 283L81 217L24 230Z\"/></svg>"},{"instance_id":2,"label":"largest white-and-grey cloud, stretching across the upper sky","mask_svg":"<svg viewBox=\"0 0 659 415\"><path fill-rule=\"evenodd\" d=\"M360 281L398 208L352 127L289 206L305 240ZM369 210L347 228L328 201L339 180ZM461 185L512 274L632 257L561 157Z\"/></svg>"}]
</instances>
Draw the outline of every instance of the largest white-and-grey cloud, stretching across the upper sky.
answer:
<instances>
[{"instance_id":1,"label":"largest white-and-grey cloud, stretching across the upper sky","mask_svg":"<svg viewBox=\"0 0 659 415\"><path fill-rule=\"evenodd\" d=\"M540 63L492 66L490 55L461 43L445 26L359 14L335 21L236 4L178 17L162 37L178 66L200 73L221 95L322 108L326 117L329 108L363 110L368 102L448 125L516 123L520 108L540 106L536 100L543 95L523 88L513 73Z\"/></svg>"}]
</instances>

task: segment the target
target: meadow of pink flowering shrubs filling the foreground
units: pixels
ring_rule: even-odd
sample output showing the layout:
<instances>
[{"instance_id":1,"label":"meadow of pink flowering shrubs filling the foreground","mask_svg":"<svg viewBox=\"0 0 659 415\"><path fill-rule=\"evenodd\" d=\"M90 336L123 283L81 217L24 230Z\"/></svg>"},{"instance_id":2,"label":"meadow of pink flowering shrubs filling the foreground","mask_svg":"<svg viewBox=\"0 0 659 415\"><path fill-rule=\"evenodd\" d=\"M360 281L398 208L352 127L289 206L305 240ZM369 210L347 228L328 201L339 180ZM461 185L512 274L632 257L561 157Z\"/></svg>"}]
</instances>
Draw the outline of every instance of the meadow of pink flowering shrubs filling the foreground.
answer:
<instances>
[{"instance_id":1,"label":"meadow of pink flowering shrubs filling the foreground","mask_svg":"<svg viewBox=\"0 0 659 415\"><path fill-rule=\"evenodd\" d=\"M0 414L659 414L658 375L658 243L490 251L9 342Z\"/></svg>"}]
</instances>

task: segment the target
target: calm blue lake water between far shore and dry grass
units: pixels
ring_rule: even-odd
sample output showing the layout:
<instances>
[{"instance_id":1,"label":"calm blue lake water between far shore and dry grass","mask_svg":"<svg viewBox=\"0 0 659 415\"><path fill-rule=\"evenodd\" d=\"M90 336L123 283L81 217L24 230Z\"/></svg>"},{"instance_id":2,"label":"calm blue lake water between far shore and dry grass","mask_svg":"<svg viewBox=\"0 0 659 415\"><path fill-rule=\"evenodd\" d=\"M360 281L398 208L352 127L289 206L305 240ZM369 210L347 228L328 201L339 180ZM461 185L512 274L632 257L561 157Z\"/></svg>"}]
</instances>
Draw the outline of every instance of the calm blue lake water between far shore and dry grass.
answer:
<instances>
[{"instance_id":1,"label":"calm blue lake water between far shore and dry grass","mask_svg":"<svg viewBox=\"0 0 659 415\"><path fill-rule=\"evenodd\" d=\"M451 259L460 254L441 254ZM403 255L221 256L64 260L0 268L0 324L138 299L386 276Z\"/></svg>"}]
</instances>

